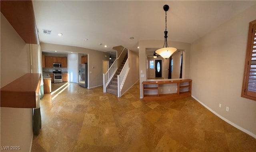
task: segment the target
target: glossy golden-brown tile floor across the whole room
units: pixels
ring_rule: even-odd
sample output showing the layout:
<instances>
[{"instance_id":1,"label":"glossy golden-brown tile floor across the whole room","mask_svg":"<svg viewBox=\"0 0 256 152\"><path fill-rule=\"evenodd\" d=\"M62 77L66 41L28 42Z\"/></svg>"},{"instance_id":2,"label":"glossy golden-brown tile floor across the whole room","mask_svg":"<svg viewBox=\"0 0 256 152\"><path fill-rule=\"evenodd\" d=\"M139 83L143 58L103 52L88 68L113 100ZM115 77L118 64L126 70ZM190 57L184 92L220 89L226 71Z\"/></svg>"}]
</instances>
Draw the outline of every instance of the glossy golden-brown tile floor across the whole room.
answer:
<instances>
[{"instance_id":1,"label":"glossy golden-brown tile floor across the whole room","mask_svg":"<svg viewBox=\"0 0 256 152\"><path fill-rule=\"evenodd\" d=\"M32 152L256 152L255 138L192 97L144 102L139 83L120 98L102 87L62 89L40 102L42 129Z\"/></svg>"}]
</instances>

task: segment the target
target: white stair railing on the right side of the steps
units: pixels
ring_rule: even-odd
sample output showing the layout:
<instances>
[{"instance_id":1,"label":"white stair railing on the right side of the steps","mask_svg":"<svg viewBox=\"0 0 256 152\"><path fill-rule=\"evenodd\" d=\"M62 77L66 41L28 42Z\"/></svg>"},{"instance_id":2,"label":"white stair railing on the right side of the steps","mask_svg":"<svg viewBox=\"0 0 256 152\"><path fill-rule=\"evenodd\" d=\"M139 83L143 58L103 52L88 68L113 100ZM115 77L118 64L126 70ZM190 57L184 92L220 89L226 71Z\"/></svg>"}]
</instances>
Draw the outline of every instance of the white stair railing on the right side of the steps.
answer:
<instances>
[{"instance_id":1,"label":"white stair railing on the right side of the steps","mask_svg":"<svg viewBox=\"0 0 256 152\"><path fill-rule=\"evenodd\" d=\"M126 62L124 63L124 67L120 72L120 75L117 76L117 96L118 97L121 97L121 90L124 86L124 82L128 75L129 70L130 70L130 67L129 67L129 57L128 57Z\"/></svg>"}]
</instances>

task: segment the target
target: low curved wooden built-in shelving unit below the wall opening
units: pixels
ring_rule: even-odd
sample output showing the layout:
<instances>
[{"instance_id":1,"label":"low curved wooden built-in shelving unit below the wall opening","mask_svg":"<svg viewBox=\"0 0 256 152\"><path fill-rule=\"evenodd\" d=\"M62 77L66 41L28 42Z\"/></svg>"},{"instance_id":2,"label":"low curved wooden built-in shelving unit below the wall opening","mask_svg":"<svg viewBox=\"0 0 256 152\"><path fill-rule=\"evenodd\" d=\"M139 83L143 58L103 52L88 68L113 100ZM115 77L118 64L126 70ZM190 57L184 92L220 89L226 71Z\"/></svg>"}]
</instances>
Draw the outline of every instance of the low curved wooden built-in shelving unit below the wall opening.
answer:
<instances>
[{"instance_id":1,"label":"low curved wooden built-in shelving unit below the wall opening","mask_svg":"<svg viewBox=\"0 0 256 152\"><path fill-rule=\"evenodd\" d=\"M176 93L160 94L159 88L164 85L176 83ZM172 80L172 81L143 81L143 100L156 101L163 99L180 99L184 97L191 97L192 80ZM148 91L148 93L146 93Z\"/></svg>"}]
</instances>

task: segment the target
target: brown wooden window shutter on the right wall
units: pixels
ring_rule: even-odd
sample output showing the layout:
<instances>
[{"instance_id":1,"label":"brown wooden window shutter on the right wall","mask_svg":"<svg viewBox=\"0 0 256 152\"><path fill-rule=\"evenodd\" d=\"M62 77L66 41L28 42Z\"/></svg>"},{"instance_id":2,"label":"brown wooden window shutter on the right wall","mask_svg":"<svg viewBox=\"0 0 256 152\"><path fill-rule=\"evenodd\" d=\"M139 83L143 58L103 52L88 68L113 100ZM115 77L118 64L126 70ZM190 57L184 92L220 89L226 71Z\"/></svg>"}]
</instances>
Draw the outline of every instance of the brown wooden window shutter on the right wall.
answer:
<instances>
[{"instance_id":1,"label":"brown wooden window shutter on the right wall","mask_svg":"<svg viewBox=\"0 0 256 152\"><path fill-rule=\"evenodd\" d=\"M256 20L249 25L241 96L256 101Z\"/></svg>"}]
</instances>

